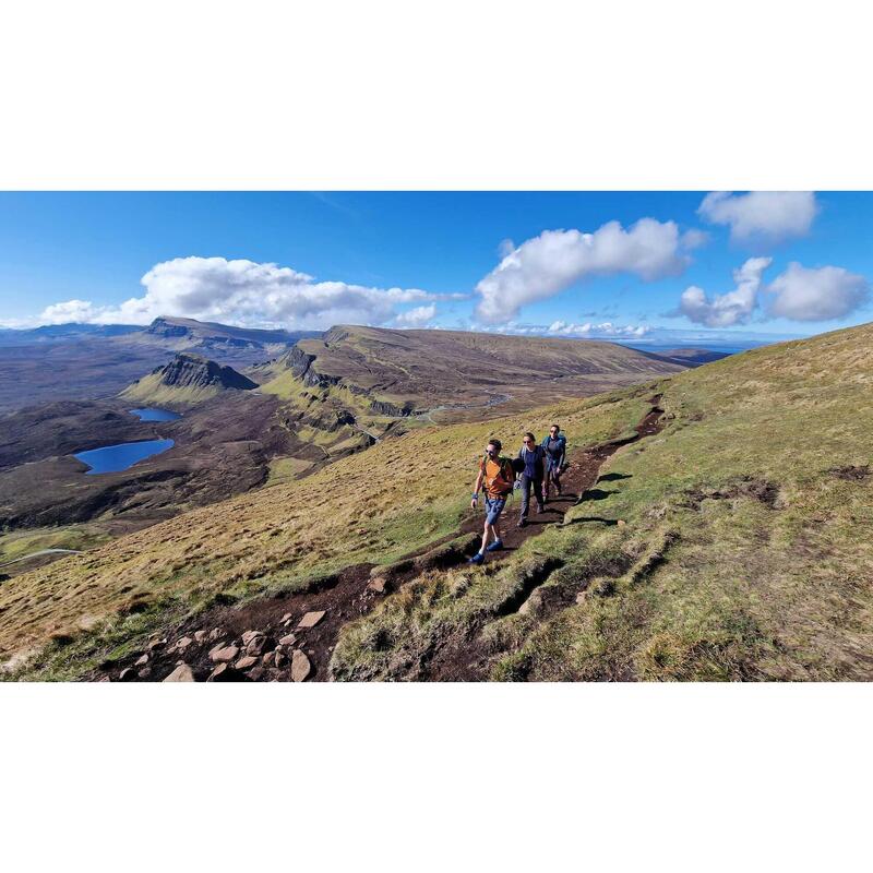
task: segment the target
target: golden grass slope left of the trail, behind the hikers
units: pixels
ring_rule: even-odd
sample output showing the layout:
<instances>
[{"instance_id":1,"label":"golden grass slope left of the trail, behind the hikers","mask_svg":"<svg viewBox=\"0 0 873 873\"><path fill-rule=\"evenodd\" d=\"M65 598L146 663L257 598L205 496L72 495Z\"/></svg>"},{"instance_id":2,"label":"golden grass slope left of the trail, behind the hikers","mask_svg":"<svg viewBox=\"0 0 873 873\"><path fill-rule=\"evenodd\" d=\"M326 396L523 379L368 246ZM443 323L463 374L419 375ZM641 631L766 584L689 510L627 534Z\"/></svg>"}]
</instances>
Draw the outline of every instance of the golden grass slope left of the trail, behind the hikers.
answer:
<instances>
[{"instance_id":1,"label":"golden grass slope left of the trail, behind the hikers","mask_svg":"<svg viewBox=\"0 0 873 873\"><path fill-rule=\"evenodd\" d=\"M304 480L19 576L0 585L0 661L53 638L50 658L40 661L48 667L32 674L73 677L216 595L292 590L359 561L391 561L455 529L490 435L517 449L523 431L543 433L558 419L573 444L597 442L631 428L650 393L641 387L487 423L421 428Z\"/></svg>"}]
</instances>

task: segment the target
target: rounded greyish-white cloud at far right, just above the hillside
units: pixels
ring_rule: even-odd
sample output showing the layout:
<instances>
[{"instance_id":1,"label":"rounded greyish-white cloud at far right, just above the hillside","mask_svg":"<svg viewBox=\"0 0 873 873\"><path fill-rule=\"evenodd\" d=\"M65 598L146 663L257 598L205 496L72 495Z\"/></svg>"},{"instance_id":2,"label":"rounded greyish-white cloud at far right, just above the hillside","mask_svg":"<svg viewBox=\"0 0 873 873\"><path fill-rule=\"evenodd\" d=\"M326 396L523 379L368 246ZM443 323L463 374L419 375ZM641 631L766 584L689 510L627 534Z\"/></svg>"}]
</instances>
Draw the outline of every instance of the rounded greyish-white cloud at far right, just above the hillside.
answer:
<instances>
[{"instance_id":1,"label":"rounded greyish-white cloud at far right, just above the hillside","mask_svg":"<svg viewBox=\"0 0 873 873\"><path fill-rule=\"evenodd\" d=\"M806 268L792 262L766 291L774 295L767 311L775 318L827 321L848 315L866 302L870 284L840 266Z\"/></svg>"}]
</instances>

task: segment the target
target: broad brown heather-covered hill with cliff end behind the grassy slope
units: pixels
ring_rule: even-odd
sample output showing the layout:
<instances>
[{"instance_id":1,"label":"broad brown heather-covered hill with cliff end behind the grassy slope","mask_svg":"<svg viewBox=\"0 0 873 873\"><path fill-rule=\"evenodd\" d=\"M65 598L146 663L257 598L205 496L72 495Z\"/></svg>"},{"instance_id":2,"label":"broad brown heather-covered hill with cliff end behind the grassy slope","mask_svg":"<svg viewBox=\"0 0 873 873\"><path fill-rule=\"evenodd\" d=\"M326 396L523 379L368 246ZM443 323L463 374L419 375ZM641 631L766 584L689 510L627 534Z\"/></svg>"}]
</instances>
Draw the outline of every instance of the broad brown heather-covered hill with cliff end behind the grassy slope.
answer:
<instances>
[{"instance_id":1,"label":"broad brown heather-covered hill with cliff end behind the grassy slope","mask_svg":"<svg viewBox=\"0 0 873 873\"><path fill-rule=\"evenodd\" d=\"M445 423L589 396L685 366L596 340L340 325L300 340L260 381L280 396L300 383L326 390L359 416Z\"/></svg>"}]
</instances>

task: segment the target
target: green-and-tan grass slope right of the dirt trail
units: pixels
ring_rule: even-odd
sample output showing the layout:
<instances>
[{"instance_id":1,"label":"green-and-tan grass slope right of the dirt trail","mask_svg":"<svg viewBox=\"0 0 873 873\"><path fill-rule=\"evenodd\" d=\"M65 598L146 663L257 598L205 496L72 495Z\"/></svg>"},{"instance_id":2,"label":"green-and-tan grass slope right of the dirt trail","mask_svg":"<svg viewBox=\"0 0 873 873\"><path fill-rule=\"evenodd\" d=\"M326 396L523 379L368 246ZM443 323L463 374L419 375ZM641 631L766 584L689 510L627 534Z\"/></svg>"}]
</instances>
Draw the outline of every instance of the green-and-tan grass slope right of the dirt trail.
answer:
<instances>
[{"instance_id":1,"label":"green-and-tan grass slope right of the dirt trail","mask_svg":"<svg viewBox=\"0 0 873 873\"><path fill-rule=\"evenodd\" d=\"M459 646L499 680L873 678L872 388L871 325L665 381L666 429L569 524L407 586L334 675L428 675Z\"/></svg>"}]
</instances>

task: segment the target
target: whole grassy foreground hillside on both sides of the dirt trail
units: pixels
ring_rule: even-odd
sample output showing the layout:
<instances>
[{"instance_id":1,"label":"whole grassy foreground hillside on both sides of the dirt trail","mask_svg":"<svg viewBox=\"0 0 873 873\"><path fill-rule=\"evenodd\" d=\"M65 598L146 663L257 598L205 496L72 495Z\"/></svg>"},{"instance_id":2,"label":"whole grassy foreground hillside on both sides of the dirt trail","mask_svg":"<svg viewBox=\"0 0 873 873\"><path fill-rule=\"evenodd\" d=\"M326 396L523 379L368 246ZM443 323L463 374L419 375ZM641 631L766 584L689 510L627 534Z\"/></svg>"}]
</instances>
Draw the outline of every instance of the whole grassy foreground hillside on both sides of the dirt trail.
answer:
<instances>
[{"instance_id":1,"label":"whole grassy foreground hillside on both sides of the dirt trail","mask_svg":"<svg viewBox=\"0 0 873 873\"><path fill-rule=\"evenodd\" d=\"M428 572L348 624L337 679L870 679L873 326L661 380L663 430L620 450L563 526ZM491 433L626 431L655 383L422 428L0 586L0 653L76 675L216 595L295 590L456 528ZM475 667L474 667L475 665ZM465 672L466 671L466 672Z\"/></svg>"}]
</instances>

